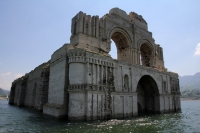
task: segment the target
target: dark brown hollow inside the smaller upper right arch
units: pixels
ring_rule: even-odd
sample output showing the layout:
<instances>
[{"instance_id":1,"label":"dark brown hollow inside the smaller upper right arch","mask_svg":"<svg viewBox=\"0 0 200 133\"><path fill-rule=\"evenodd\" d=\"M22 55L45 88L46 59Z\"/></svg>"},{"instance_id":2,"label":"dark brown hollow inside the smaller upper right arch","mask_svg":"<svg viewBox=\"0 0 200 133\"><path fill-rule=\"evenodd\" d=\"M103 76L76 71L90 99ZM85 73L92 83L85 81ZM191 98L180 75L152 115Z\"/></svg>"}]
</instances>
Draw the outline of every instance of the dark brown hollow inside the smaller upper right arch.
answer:
<instances>
[{"instance_id":1,"label":"dark brown hollow inside the smaller upper right arch","mask_svg":"<svg viewBox=\"0 0 200 133\"><path fill-rule=\"evenodd\" d=\"M152 49L148 43L143 43L140 47L140 65L150 67L151 66L151 57Z\"/></svg>"}]
</instances>

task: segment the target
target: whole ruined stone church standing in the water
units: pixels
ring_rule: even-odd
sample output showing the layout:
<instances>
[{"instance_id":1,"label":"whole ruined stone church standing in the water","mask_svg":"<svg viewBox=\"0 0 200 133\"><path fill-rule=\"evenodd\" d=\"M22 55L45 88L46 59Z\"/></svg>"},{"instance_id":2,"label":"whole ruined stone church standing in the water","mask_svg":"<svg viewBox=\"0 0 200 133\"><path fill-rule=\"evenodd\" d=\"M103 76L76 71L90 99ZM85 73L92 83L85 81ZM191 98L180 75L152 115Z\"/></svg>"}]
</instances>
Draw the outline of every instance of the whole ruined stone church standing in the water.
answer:
<instances>
[{"instance_id":1,"label":"whole ruined stone church standing in the water","mask_svg":"<svg viewBox=\"0 0 200 133\"><path fill-rule=\"evenodd\" d=\"M113 59L111 40L117 49ZM113 8L102 18L79 12L70 43L12 83L9 104L68 120L127 118L180 111L178 74L135 12Z\"/></svg>"}]
</instances>

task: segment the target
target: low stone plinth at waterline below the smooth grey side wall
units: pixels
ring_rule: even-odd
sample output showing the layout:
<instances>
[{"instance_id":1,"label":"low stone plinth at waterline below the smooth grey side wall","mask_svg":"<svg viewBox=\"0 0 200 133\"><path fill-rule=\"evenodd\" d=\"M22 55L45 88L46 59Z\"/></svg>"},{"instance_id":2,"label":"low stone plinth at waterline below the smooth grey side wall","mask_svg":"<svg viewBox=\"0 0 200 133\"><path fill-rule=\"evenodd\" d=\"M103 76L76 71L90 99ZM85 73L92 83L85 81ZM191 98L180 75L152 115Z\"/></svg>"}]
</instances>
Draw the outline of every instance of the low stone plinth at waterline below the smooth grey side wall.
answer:
<instances>
[{"instance_id":1,"label":"low stone plinth at waterline below the smooth grey side wall","mask_svg":"<svg viewBox=\"0 0 200 133\"><path fill-rule=\"evenodd\" d=\"M43 106L43 113L56 118L67 118L67 107L66 105L47 103Z\"/></svg>"}]
</instances>

